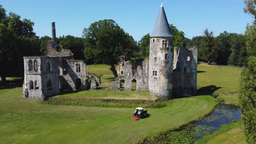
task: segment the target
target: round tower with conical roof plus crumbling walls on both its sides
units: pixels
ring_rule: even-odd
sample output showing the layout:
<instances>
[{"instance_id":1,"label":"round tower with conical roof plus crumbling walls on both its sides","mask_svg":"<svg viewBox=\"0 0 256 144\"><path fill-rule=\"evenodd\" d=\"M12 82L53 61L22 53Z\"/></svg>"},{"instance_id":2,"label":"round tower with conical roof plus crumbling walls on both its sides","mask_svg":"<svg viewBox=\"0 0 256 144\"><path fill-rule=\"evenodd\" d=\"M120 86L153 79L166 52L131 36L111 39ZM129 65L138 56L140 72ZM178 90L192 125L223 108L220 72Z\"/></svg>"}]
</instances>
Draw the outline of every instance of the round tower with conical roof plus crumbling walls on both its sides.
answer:
<instances>
[{"instance_id":1,"label":"round tower with conical roof plus crumbling walls on both its sides","mask_svg":"<svg viewBox=\"0 0 256 144\"><path fill-rule=\"evenodd\" d=\"M173 37L165 15L160 8L155 27L150 35L149 59L142 63L121 62L117 78L110 90L132 90L132 80L136 80L137 91L149 91L161 99L173 96L190 96L197 90L197 48L173 48Z\"/></svg>"}]
</instances>

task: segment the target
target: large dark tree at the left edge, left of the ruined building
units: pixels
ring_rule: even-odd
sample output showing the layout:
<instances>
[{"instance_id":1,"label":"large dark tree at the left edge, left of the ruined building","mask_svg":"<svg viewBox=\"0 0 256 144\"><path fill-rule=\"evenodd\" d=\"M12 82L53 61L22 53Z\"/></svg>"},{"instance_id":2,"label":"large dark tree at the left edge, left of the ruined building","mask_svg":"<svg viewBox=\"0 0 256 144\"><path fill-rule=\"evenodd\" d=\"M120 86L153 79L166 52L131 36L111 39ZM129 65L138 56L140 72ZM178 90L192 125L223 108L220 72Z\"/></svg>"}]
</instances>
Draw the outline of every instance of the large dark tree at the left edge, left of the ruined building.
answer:
<instances>
[{"instance_id":1,"label":"large dark tree at the left edge, left of the ruined building","mask_svg":"<svg viewBox=\"0 0 256 144\"><path fill-rule=\"evenodd\" d=\"M6 76L21 76L24 73L24 56L39 53L38 37L33 32L34 23L9 13L0 7L0 76L6 82ZM3 16L4 15L4 16Z\"/></svg>"}]
</instances>

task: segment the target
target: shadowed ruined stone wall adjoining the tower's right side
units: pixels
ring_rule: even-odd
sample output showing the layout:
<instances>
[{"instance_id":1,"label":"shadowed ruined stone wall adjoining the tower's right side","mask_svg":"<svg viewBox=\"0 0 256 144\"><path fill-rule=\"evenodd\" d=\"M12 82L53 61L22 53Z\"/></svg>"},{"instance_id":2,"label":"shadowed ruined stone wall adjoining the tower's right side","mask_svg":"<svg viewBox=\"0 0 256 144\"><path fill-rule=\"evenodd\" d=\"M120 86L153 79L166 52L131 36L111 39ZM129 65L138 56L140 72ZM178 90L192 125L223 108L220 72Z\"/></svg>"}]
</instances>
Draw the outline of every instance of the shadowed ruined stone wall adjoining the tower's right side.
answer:
<instances>
[{"instance_id":1,"label":"shadowed ruined stone wall adjoining the tower's right side","mask_svg":"<svg viewBox=\"0 0 256 144\"><path fill-rule=\"evenodd\" d=\"M173 94L179 96L191 96L197 90L197 48L193 50L180 47L174 50L173 61Z\"/></svg>"}]
</instances>

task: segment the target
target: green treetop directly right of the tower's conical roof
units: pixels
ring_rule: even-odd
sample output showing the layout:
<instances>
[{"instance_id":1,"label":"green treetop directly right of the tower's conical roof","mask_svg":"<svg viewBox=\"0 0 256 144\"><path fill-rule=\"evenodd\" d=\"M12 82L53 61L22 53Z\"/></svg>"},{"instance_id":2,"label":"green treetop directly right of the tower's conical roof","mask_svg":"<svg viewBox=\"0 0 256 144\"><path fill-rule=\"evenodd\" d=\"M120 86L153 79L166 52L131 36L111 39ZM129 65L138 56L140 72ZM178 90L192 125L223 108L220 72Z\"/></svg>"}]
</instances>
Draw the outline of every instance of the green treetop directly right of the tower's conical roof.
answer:
<instances>
[{"instance_id":1,"label":"green treetop directly right of the tower's conical roof","mask_svg":"<svg viewBox=\"0 0 256 144\"><path fill-rule=\"evenodd\" d=\"M177 27L173 26L173 24L169 25L172 36L173 36L173 46L174 47L181 47L181 46L186 46L187 44L185 43L185 34L182 31L179 31Z\"/></svg>"}]
</instances>

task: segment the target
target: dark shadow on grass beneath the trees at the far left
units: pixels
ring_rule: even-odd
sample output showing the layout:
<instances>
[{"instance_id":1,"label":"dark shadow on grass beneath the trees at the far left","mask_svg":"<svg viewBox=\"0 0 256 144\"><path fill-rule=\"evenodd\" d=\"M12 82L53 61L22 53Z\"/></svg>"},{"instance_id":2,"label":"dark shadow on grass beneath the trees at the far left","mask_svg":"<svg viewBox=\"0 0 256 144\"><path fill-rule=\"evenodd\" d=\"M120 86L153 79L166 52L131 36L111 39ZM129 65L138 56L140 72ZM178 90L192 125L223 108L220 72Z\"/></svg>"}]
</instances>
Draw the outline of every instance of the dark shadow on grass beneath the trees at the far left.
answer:
<instances>
[{"instance_id":1,"label":"dark shadow on grass beneath the trees at the far left","mask_svg":"<svg viewBox=\"0 0 256 144\"><path fill-rule=\"evenodd\" d=\"M23 79L21 77L15 78L13 80L7 80L7 82L4 84L2 83L2 81L0 81L0 90L22 87L22 83L23 83Z\"/></svg>"}]
</instances>

